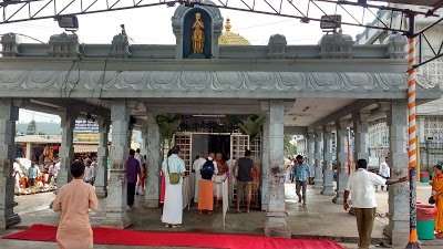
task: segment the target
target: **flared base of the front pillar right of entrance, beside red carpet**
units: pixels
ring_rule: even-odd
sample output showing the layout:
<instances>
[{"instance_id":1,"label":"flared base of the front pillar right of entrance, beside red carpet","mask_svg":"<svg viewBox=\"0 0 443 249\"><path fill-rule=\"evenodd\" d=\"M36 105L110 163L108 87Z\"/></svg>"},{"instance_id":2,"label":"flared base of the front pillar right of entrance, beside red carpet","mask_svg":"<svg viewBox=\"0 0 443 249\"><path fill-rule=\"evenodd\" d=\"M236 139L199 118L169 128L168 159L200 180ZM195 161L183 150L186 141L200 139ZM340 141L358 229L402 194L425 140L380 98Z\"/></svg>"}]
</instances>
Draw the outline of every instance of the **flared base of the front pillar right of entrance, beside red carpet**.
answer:
<instances>
[{"instance_id":1,"label":"flared base of the front pillar right of entrance, beside red carpet","mask_svg":"<svg viewBox=\"0 0 443 249\"><path fill-rule=\"evenodd\" d=\"M265 222L265 236L290 238L291 231L286 222L286 214L268 212Z\"/></svg>"}]
</instances>

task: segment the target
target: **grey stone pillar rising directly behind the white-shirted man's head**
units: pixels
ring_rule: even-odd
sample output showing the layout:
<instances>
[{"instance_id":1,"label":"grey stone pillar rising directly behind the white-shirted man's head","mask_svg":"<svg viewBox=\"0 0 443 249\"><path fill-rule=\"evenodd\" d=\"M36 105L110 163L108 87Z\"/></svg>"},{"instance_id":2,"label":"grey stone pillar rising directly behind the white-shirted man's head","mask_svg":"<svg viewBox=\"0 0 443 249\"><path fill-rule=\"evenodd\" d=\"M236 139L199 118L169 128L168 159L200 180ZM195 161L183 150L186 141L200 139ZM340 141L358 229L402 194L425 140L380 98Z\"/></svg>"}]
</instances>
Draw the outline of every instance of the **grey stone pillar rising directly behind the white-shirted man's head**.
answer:
<instances>
[{"instance_id":1,"label":"grey stone pillar rising directly behind the white-shirted man's head","mask_svg":"<svg viewBox=\"0 0 443 249\"><path fill-rule=\"evenodd\" d=\"M354 131L354 160L358 159L369 159L368 155L368 118L370 113L358 112L353 114L353 131Z\"/></svg>"}]
</instances>

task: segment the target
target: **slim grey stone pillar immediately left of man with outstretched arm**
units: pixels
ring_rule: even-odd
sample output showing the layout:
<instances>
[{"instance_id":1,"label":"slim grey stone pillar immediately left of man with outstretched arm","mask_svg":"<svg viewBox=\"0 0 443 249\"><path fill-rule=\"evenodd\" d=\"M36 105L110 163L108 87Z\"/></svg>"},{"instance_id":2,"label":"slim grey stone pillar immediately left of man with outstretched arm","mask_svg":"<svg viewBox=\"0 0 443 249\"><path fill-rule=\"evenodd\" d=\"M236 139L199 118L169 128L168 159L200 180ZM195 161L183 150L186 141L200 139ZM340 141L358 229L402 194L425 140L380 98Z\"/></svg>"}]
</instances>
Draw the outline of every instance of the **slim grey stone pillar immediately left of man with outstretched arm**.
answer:
<instances>
[{"instance_id":1,"label":"slim grey stone pillar immediately left of man with outstretched arm","mask_svg":"<svg viewBox=\"0 0 443 249\"><path fill-rule=\"evenodd\" d=\"M348 139L348 123L336 122L337 127L337 195L332 199L334 204L343 204L344 188L348 185L348 168L346 143Z\"/></svg>"}]
</instances>

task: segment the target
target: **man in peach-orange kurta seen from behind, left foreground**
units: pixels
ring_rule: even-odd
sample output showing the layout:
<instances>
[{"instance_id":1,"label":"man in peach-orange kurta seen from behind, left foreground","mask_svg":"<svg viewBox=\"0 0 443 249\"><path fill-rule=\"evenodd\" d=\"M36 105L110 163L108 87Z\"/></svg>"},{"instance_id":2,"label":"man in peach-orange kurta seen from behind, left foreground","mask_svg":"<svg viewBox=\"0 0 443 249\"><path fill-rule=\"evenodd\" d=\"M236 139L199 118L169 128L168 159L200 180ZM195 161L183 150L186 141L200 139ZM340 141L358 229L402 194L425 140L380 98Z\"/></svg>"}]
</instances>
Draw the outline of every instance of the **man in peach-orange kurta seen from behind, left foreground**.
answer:
<instances>
[{"instance_id":1,"label":"man in peach-orange kurta seen from behind, left foreground","mask_svg":"<svg viewBox=\"0 0 443 249\"><path fill-rule=\"evenodd\" d=\"M99 200L94 187L83 181L82 162L71 165L71 175L73 179L60 188L52 206L61 212L56 243L59 249L93 248L89 209L96 210Z\"/></svg>"}]
</instances>

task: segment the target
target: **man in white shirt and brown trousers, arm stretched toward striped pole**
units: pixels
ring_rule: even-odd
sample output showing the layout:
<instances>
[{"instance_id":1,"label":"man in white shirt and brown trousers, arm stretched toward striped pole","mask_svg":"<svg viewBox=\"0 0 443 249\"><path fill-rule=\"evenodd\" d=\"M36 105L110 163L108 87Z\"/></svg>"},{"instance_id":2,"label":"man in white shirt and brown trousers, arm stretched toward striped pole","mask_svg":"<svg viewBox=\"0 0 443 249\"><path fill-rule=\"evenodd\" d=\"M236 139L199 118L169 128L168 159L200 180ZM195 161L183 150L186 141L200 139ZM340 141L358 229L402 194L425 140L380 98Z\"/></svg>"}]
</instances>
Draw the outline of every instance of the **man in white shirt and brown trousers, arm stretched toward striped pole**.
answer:
<instances>
[{"instance_id":1,"label":"man in white shirt and brown trousers, arm stretched toward striped pole","mask_svg":"<svg viewBox=\"0 0 443 249\"><path fill-rule=\"evenodd\" d=\"M367 168L368 162L365 159L357 162L357 170L349 177L343 201L343 208L348 210L348 197L351 196L359 230L359 249L368 249L371 246L377 209L375 185L392 185L408 180L408 177L402 177L394 181L387 180L377 174L368 172Z\"/></svg>"}]
</instances>

